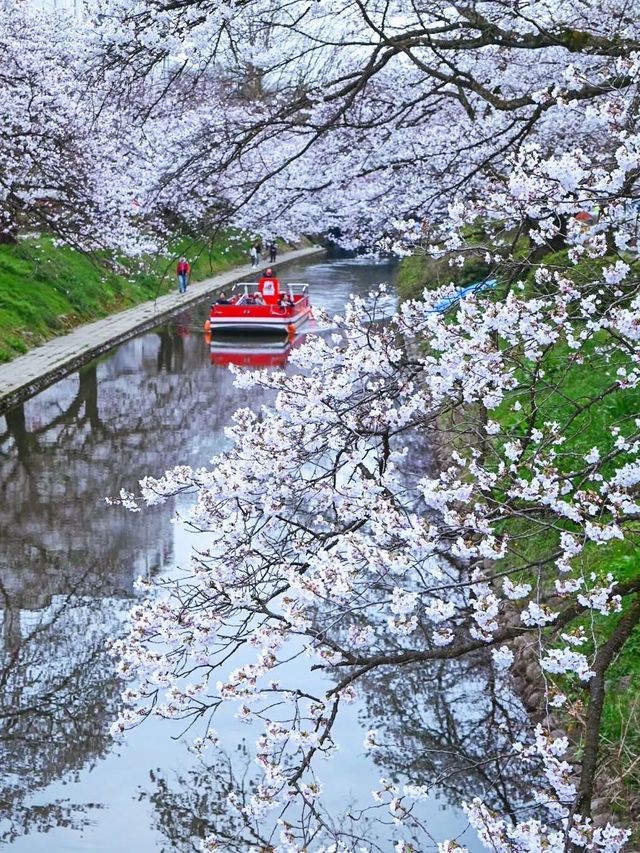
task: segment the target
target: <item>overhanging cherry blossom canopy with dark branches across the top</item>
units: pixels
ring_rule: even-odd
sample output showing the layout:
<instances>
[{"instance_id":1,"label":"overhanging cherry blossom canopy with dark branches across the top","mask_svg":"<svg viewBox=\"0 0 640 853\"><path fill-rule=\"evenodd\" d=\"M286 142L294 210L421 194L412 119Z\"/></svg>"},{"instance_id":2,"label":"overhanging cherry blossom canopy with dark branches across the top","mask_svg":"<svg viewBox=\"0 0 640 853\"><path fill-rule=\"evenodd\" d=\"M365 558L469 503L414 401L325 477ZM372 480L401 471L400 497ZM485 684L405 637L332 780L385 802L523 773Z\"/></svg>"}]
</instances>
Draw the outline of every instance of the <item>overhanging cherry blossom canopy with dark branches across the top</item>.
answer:
<instances>
[{"instance_id":1,"label":"overhanging cherry blossom canopy with dark branches across the top","mask_svg":"<svg viewBox=\"0 0 640 853\"><path fill-rule=\"evenodd\" d=\"M610 169L634 130L637 25L615 2L120 0L102 14L109 67L161 79L186 122L171 170L183 209L206 197L250 229L413 244L455 195L486 206L523 146L558 180L585 159ZM240 96L257 76L253 101Z\"/></svg>"}]
</instances>

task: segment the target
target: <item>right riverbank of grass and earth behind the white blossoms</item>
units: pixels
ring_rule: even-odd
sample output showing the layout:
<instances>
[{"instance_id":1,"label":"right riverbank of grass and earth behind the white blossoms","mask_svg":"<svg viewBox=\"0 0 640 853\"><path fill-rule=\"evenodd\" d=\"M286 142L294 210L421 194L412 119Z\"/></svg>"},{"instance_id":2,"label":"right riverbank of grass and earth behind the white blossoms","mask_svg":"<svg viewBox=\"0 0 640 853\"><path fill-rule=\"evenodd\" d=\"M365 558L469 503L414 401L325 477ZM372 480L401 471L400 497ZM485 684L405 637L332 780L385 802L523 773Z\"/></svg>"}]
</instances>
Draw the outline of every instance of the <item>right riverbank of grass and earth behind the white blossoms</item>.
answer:
<instances>
[{"instance_id":1,"label":"right riverbank of grass and earth behind the white blossoms","mask_svg":"<svg viewBox=\"0 0 640 853\"><path fill-rule=\"evenodd\" d=\"M424 289L434 289L449 281L460 286L466 283L461 276L469 273L477 276L476 280L491 275L501 286L487 298L499 300L509 286L517 286L519 293L531 298L550 298L557 281L562 281L565 286L570 281L576 291L592 292L596 304L603 305L613 297L624 295L622 289L613 293L604 284L606 276L603 270L618 261L618 257L607 255L584 257L574 263L565 248L548 252L528 265L496 265L478 276L482 270L476 256L458 268L449 267L446 259L431 262L416 255L403 261L396 283L402 300L419 298ZM626 255L625 262L637 279L640 268L635 254ZM547 278L536 277L542 265L548 271ZM576 323L576 328L578 332L582 331L579 323ZM585 500L598 500L598 487L591 485L599 482L597 475L590 472L589 476L579 473L576 476L568 472L579 471L576 460L589 462L594 456L612 460L610 467L604 467L605 474L615 470L616 464L626 461L616 452L616 442L621 434L630 434L630 425L636 423L640 394L633 384L627 387L616 381L616 377L626 375L629 366L616 352L606 326L589 329L585 323L584 328L585 334L580 336L578 346L560 335L556 340L550 337L551 343L541 349L535 359L524 352L513 358L514 391L505 395L500 405L490 412L481 405L466 405L464 408L452 408L443 415L439 423L440 440L436 445L440 470L450 470L457 458L464 459L467 466L482 459L482 464L494 472L498 472L501 466L504 472L508 472L513 470L514 457L510 454L515 451L525 460L525 466L529 460L535 465L534 460L546 458L548 461L543 470L550 484L553 483L550 471L553 465L557 465L567 481L571 476L575 478L572 488L582 489ZM557 430L557 434L562 436L561 441L549 438L551 429ZM459 470L461 480L465 481L467 475L462 468ZM524 477L521 482L525 482ZM563 494L567 494L569 490L565 484L563 488ZM496 490L496 498L499 501L504 499L499 489ZM612 537L610 541L597 542L586 537L581 543L579 559L574 560L571 568L560 569L571 571L569 579L571 584L577 585L575 589L585 582L595 584L599 581L606 586L611 579L615 579L619 586L627 587L637 582L640 523L637 517L628 514L622 524L624 538ZM553 567L558 558L561 536L573 530L570 521L552 523L542 506L535 514L525 510L509 517L507 513L496 529L508 543L507 553L501 560L486 560L484 568L488 576L496 578L497 595L502 593L498 579L519 570L519 580L537 587L542 601L551 602L558 609L566 607L565 594L558 594L555 578L551 572L546 577L546 570ZM559 583L567 583L567 578ZM620 603L622 612L627 612L631 605L630 596L623 597ZM508 603L502 606L506 608L503 618L506 624L510 624ZM615 618L598 612L597 608L584 614L576 612L571 623L572 632L583 632L585 639L581 652L589 660L593 660L596 651L609 641L611 623ZM519 613L515 614L512 627L516 625L521 625ZM566 635L572 636L572 632ZM564 634L553 636L552 629L548 628L549 645L561 646L566 642L564 638ZM631 829L630 845L634 850L640 849L640 773L637 760L640 752L639 648L640 631L636 627L606 668L599 720L598 767L592 798L595 824L602 826L611 821ZM554 673L553 676L542 672L537 632L532 632L531 637L518 638L512 650L515 661L511 672L516 693L532 722L544 721L554 737L567 736L569 751L566 760L572 765L573 781L577 784L583 770L582 758L587 743L585 708L591 701L589 687L571 671ZM563 710L554 710L556 699L564 702Z\"/></svg>"}]
</instances>

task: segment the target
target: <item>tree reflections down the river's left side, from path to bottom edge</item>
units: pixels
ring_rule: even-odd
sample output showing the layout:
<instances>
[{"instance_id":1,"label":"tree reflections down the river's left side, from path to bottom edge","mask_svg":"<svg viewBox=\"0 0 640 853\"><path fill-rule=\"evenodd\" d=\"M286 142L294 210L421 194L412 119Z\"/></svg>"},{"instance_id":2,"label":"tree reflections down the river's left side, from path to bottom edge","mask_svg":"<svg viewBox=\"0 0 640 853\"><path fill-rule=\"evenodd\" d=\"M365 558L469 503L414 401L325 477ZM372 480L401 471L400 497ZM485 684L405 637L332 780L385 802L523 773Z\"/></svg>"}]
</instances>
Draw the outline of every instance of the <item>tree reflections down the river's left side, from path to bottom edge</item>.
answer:
<instances>
[{"instance_id":1,"label":"tree reflections down the river's left side, from path to bottom edge","mask_svg":"<svg viewBox=\"0 0 640 853\"><path fill-rule=\"evenodd\" d=\"M0 419L0 843L86 819L29 800L108 749L118 599L172 558L170 506L134 516L105 495L193 446L206 462L215 444L196 439L238 404L202 336L183 334L132 340Z\"/></svg>"}]
</instances>

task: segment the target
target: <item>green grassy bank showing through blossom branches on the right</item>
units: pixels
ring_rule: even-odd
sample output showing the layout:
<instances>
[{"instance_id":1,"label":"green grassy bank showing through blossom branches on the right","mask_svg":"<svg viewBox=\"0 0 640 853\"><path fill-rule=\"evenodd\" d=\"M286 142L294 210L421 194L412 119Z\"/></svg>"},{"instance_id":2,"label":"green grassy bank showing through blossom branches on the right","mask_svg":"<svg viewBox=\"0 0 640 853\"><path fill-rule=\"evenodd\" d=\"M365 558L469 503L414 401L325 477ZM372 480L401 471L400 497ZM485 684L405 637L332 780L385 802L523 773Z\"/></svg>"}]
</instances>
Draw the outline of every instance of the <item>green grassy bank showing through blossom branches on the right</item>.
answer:
<instances>
[{"instance_id":1,"label":"green grassy bank showing through blossom branches on the right","mask_svg":"<svg viewBox=\"0 0 640 853\"><path fill-rule=\"evenodd\" d=\"M548 253L543 263L587 293L596 289L595 283L602 280L602 268L616 260L617 257L605 256L585 258L578 264L572 264L567 251L562 250ZM621 285L618 297L623 295L626 287L632 289L635 286L634 280L640 279L640 262L634 256L625 260L632 268L631 283ZM531 266L528 272L523 270L518 279L524 283L524 295L541 296L557 286L553 280L542 284L536 282L534 270L535 266ZM417 288L426 283L424 274L424 259L410 259L405 279ZM494 274L498 280L508 278L503 269L496 270ZM487 298L500 299L500 291ZM605 292L599 298L601 304L606 304L612 295ZM506 344L501 345L506 348ZM557 466L571 479L572 491L582 490L585 500L593 500L597 504L598 481L589 479L585 464L585 457L592 448L597 447L605 460L602 469L605 476L634 458L633 453L629 457L614 457L617 437L634 433L640 412L640 388L623 388L617 383L618 371L623 367L629 369L624 348L619 347L604 329L592 331L578 349L569 347L560 339L545 349L539 363L530 361L521 351L514 351L512 356L517 386L498 408L487 413L480 406L469 406L462 414L456 412L455 417L451 414L443 417L441 426L450 430L447 451L455 449L469 461L474 453L482 454L485 465L497 470L502 462L508 471L510 459L505 454L506 442L520 441L525 448L525 459L540 458L549 452L549 448L541 448L537 443L539 439L535 438L534 428L558 424L565 440L553 448L552 467ZM487 417L497 424L493 437L485 434ZM607 461L609 454L611 460ZM443 464L446 467L446 459ZM584 468L581 475L571 474L580 471L581 467ZM501 491L498 482L494 497L500 502L505 500L506 483L505 490ZM552 583L554 575L547 569L553 567L557 559L562 532L571 531L572 524L559 518L551 519L542 511L527 513L525 510L526 507L522 512L505 513L504 521L496 525L496 532L506 534L510 545L508 556L494 564L495 573L499 577L502 572L520 568L521 582L535 585L540 579L542 597L560 609L563 602L556 597ZM637 581L640 577L640 521L629 517L624 523L624 534L623 541L612 539L599 545L586 541L580 557L574 559L571 571L561 576L562 579L584 577L589 583L606 585L607 575L611 573L620 584ZM546 575L548 578L545 580ZM623 611L630 606L629 598L627 596L623 600ZM595 642L599 647L606 642L611 625L617 618L616 615L605 617L597 611L587 611L576 615L569 633L579 627L585 630L586 642L580 650L589 654L593 652ZM564 645L564 642L558 642ZM588 685L571 673L556 675L553 680L568 697L566 727L577 743L577 754L580 755ZM607 800L612 812L631 823L637 814L640 797L640 627L633 630L606 673L600 750L601 769L596 784L598 796ZM640 843L640 831L637 825L633 828L633 843L637 845ZM633 849L640 848L636 846Z\"/></svg>"}]
</instances>

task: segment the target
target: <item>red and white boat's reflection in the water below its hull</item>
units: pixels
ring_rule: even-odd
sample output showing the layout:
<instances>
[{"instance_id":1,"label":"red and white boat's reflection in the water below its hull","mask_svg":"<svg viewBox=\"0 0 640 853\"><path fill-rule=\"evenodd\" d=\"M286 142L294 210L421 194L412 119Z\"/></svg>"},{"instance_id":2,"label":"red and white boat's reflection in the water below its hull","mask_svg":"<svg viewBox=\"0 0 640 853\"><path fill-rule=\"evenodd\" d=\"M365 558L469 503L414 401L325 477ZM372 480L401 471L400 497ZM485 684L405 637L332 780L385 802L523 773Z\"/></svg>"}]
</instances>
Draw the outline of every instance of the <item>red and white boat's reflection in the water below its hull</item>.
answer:
<instances>
[{"instance_id":1,"label":"red and white boat's reflection in the water below its hull","mask_svg":"<svg viewBox=\"0 0 640 853\"><path fill-rule=\"evenodd\" d=\"M238 334L216 329L205 333L209 345L211 364L237 364L241 367L284 367L291 350L299 347L307 337L305 330L295 335L275 337L258 334Z\"/></svg>"}]
</instances>

